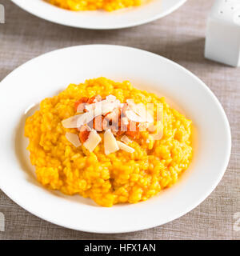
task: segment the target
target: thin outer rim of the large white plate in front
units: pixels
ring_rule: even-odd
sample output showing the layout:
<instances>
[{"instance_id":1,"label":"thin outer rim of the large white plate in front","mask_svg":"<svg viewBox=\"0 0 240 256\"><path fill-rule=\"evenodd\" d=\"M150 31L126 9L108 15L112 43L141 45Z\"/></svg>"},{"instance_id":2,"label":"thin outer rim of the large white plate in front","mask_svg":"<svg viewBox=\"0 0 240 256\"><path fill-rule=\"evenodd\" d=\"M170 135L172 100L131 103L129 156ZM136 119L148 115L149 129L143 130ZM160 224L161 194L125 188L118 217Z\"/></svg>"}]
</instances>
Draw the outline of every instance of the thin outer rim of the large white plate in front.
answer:
<instances>
[{"instance_id":1,"label":"thin outer rim of the large white plate in front","mask_svg":"<svg viewBox=\"0 0 240 256\"><path fill-rule=\"evenodd\" d=\"M63 226L66 227L68 229L72 229L72 230L79 230L79 231L84 231L84 232L90 232L90 233L96 233L96 234L120 234L120 233L129 233L129 232L135 232L135 231L139 231L139 230L146 230L146 229L150 229L153 228L155 226L162 226L168 222L174 221L177 218L182 217L183 215L189 213L191 210L194 210L194 208L196 208L198 205L200 205L206 198L209 197L209 195L214 191L214 189L218 186L218 183L222 180L223 175L226 172L226 168L229 164L230 161L230 154L231 154L231 132L230 132L230 124L229 121L226 117L226 113L222 107L222 104L218 101L218 98L215 96L215 94L212 92L212 90L210 90L210 88L208 86L206 86L206 84L204 82L202 82L202 80L200 78L198 78L195 74L193 74L192 72L190 72L190 70L187 70L185 67L179 65L177 62L174 62L168 58L162 57L161 55L158 54L154 54L150 51L147 50L141 50L138 48L134 48L134 47L130 47L130 46L118 46L118 45L110 45L110 44L90 44L90 45L82 45L82 46L70 46L70 47L65 47L62 49L58 49L58 50L52 50L50 52L47 52L45 54L41 54L38 57L32 58L29 61L23 63L22 65L18 66L16 69L14 69L13 71L10 72L10 74L7 74L5 78L2 79L2 81L0 82L0 91L1 91L1 85L2 82L5 82L5 80L7 78L9 78L11 75L13 75L13 73L17 70L20 70L22 68L24 68L26 65L29 65L30 62L34 62L36 60L38 60L38 58L43 58L46 55L50 55L50 54L56 54L56 52L59 51L64 51L64 50L70 50L70 49L74 49L74 48L84 48L84 47L97 47L97 48L101 48L101 47L112 47L115 49L128 49L128 50L134 50L134 51L138 51L138 52L142 52L144 54L149 54L150 56L154 56L155 58L162 58L162 60L164 62L169 62L171 65L174 65L176 67L178 67L178 69L182 70L183 72L185 72L186 74L190 75L192 78L194 78L195 80L198 81L199 84L201 84L201 86L207 90L207 92L210 94L211 98L214 100L214 102L217 104L218 109L221 111L222 114L222 118L224 118L224 123L226 125L226 130L227 130L227 138L228 138L228 144L226 145L227 148L227 153L225 155L225 159L224 159L224 165L222 165L221 170L219 170L218 173L218 178L215 178L212 186L210 187L209 190L207 190L204 194L202 194L202 197L198 199L198 201L196 201L195 203L193 203L191 206L186 207L186 210L182 211L181 213L175 214L174 216L172 216L171 218L168 219L168 221L166 222L162 222L162 223L158 223L158 224L154 224L154 225L145 225L142 224L142 226L138 227L138 228L134 228L134 229L130 229L128 230L127 228L125 230L117 230L117 231L112 231L112 230L101 230L99 231L98 229L93 230L93 229L78 229L74 226L71 225L65 225L59 222L54 221L53 219L50 218L46 218L46 217L42 217L41 214L35 213L34 210L29 210L30 207L26 207L26 206L22 206L21 203L18 203L18 199L15 198L12 194L9 193L9 191L7 191L6 187L2 186L1 184L1 179L0 179L0 189L11 199L13 200L15 203L18 204L18 206L21 206L23 209L27 210L28 212L30 212L30 214L34 214L35 216L37 216L38 218L42 218L43 220L50 222L50 223L54 223L58 226ZM21 168L20 168L21 169Z\"/></svg>"}]
</instances>

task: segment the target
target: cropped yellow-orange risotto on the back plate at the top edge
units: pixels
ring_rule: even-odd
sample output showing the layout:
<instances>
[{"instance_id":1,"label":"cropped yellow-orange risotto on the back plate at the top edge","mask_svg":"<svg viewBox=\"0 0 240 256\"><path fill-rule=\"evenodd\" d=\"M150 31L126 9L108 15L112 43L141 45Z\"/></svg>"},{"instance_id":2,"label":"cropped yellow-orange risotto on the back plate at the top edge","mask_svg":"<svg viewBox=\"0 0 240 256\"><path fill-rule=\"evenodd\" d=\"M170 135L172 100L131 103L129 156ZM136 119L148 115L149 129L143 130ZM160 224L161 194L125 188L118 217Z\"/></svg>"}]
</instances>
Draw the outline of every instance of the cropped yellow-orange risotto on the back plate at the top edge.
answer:
<instances>
[{"instance_id":1,"label":"cropped yellow-orange risotto on the back plate at the top edge","mask_svg":"<svg viewBox=\"0 0 240 256\"><path fill-rule=\"evenodd\" d=\"M140 6L144 0L46 0L55 6L68 10L118 10Z\"/></svg>"}]
</instances>

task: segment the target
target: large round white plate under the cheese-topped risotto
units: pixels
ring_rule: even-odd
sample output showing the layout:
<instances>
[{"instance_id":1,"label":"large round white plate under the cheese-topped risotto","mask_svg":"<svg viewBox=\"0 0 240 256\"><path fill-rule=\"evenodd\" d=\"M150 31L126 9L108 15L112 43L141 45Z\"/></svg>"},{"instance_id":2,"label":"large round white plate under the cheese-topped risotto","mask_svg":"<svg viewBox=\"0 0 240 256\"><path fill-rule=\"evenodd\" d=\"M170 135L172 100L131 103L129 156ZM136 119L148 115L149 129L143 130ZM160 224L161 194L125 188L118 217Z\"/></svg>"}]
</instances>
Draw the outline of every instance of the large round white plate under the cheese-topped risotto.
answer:
<instances>
[{"instance_id":1,"label":"large round white plate under the cheese-topped risotto","mask_svg":"<svg viewBox=\"0 0 240 256\"><path fill-rule=\"evenodd\" d=\"M194 160L170 189L137 204L112 208L46 190L34 178L23 126L32 106L69 83L105 76L165 95L194 122ZM124 46L74 46L18 67L0 84L0 187L19 206L74 230L121 233L162 225L198 206L218 185L230 158L230 126L210 89L182 66Z\"/></svg>"}]
</instances>

